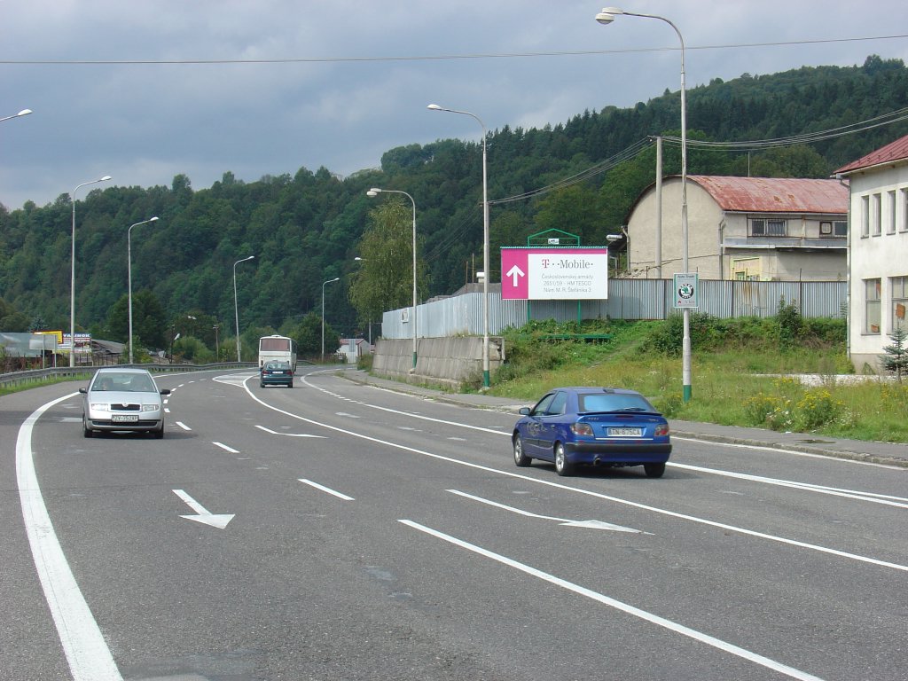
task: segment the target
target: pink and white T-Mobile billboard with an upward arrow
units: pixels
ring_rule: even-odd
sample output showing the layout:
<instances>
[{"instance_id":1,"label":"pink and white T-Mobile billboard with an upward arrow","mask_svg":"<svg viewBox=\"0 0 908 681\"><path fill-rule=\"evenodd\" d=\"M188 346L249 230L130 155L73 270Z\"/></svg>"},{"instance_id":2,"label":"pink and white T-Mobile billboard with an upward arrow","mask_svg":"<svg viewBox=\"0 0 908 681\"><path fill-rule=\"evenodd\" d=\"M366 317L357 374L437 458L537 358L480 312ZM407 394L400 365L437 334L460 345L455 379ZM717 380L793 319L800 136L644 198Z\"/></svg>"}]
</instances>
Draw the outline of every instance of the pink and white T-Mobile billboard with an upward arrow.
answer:
<instances>
[{"instance_id":1,"label":"pink and white T-Mobile billboard with an upward arrow","mask_svg":"<svg viewBox=\"0 0 908 681\"><path fill-rule=\"evenodd\" d=\"M502 248L501 298L597 301L608 298L607 248Z\"/></svg>"}]
</instances>

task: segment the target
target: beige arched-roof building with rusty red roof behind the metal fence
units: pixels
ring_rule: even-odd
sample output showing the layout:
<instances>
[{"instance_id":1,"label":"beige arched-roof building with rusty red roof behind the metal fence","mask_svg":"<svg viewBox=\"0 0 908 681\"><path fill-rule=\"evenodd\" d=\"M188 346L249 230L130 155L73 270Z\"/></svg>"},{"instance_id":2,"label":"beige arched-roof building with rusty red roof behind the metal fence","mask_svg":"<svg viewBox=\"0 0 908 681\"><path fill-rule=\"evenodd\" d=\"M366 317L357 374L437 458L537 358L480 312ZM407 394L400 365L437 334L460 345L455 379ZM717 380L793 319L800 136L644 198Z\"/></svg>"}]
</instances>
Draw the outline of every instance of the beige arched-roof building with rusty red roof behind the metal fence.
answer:
<instances>
[{"instance_id":1,"label":"beige arched-roof building with rusty red roof behind the metal fence","mask_svg":"<svg viewBox=\"0 0 908 681\"><path fill-rule=\"evenodd\" d=\"M627 222L627 276L670 279L682 268L681 178L656 186ZM848 190L837 180L687 176L688 271L701 279L845 281ZM661 241L661 277L657 243Z\"/></svg>"}]
</instances>

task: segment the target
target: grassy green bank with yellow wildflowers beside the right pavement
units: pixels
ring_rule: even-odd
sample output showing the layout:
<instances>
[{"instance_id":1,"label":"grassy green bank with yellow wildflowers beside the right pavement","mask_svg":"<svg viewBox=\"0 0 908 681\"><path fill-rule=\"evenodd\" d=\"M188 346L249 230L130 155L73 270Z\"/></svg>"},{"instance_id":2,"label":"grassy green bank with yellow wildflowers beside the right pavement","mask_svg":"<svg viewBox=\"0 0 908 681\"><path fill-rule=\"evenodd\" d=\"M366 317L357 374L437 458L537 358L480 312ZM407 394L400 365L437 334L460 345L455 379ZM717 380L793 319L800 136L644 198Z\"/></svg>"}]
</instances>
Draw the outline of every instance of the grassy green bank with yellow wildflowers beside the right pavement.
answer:
<instances>
[{"instance_id":1,"label":"grassy green bank with yellow wildflowers beside the right pavement","mask_svg":"<svg viewBox=\"0 0 908 681\"><path fill-rule=\"evenodd\" d=\"M715 321L692 315L687 402L674 319L532 322L508 331L508 364L491 392L530 403L556 386L629 388L671 419L908 442L908 383L848 376L844 321L800 320L790 310L780 317ZM552 333L608 333L611 340L544 340ZM802 374L814 381L800 380Z\"/></svg>"}]
</instances>

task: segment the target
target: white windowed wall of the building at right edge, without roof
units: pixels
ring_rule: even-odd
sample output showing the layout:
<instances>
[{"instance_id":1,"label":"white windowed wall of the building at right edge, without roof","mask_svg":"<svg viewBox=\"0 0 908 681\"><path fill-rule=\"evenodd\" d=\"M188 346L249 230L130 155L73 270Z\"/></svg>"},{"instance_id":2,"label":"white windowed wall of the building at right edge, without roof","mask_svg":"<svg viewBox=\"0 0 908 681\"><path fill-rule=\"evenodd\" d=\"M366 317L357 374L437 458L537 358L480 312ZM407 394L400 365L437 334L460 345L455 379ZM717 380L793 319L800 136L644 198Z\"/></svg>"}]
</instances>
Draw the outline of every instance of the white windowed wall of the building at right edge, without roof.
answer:
<instances>
[{"instance_id":1,"label":"white windowed wall of the building at right edge, without roof","mask_svg":"<svg viewBox=\"0 0 908 681\"><path fill-rule=\"evenodd\" d=\"M898 318L893 304L893 283L895 278L908 277L908 216L905 214L908 163L855 173L849 179L849 352L855 370L878 371L883 348L892 344L889 334L896 325L905 322ZM879 196L878 211L874 207L876 196ZM876 229L876 223L879 229ZM879 323L871 325L868 323L866 291L867 282L873 280L879 280L880 302Z\"/></svg>"}]
</instances>

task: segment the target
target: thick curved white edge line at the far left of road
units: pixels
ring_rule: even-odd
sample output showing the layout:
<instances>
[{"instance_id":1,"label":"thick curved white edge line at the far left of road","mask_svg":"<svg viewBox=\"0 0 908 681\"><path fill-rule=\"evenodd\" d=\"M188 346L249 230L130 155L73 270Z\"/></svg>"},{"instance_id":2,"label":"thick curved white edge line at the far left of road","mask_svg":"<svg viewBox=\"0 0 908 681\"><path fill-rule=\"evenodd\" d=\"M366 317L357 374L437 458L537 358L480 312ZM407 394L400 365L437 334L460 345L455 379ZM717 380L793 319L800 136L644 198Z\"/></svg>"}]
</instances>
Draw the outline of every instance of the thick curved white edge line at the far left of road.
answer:
<instances>
[{"instance_id":1,"label":"thick curved white edge line at the far left of road","mask_svg":"<svg viewBox=\"0 0 908 681\"><path fill-rule=\"evenodd\" d=\"M73 681L123 681L114 656L66 561L35 473L32 451L35 423L46 410L74 397L78 397L78 393L47 402L32 412L19 429L15 441L15 470L22 517L44 599L54 617L54 626Z\"/></svg>"}]
</instances>

